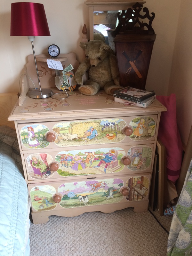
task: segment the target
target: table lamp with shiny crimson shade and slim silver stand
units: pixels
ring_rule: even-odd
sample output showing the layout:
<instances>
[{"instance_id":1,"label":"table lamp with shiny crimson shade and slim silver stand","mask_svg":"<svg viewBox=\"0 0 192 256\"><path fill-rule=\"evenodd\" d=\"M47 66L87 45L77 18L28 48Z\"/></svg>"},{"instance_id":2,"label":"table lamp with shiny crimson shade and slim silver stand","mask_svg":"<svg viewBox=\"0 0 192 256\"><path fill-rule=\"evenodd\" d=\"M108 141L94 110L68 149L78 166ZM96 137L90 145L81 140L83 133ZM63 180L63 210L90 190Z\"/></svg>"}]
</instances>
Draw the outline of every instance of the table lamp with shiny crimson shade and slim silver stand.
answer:
<instances>
[{"instance_id":1,"label":"table lamp with shiny crimson shade and slim silver stand","mask_svg":"<svg viewBox=\"0 0 192 256\"><path fill-rule=\"evenodd\" d=\"M44 5L26 2L12 3L11 36L28 36L28 39L32 44L39 89L29 91L29 97L33 99L42 99L52 96L52 90L44 88L41 89L33 45L35 36L50 36Z\"/></svg>"}]
</instances>

